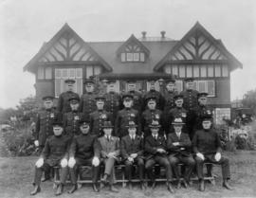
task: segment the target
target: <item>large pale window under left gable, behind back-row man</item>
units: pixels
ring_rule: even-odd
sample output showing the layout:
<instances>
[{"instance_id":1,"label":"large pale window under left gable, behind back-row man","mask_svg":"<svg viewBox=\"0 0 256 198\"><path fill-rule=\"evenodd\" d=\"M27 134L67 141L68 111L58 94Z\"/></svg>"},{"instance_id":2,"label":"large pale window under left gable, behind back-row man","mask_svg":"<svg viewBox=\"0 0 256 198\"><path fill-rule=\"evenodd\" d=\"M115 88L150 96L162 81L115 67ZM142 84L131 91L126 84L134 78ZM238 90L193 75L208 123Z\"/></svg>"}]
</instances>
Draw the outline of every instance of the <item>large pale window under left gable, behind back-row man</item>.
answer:
<instances>
[{"instance_id":1,"label":"large pale window under left gable, behind back-row man","mask_svg":"<svg viewBox=\"0 0 256 198\"><path fill-rule=\"evenodd\" d=\"M59 97L65 91L64 81L76 81L74 92L82 95L82 68L55 69L55 96Z\"/></svg>"}]
</instances>

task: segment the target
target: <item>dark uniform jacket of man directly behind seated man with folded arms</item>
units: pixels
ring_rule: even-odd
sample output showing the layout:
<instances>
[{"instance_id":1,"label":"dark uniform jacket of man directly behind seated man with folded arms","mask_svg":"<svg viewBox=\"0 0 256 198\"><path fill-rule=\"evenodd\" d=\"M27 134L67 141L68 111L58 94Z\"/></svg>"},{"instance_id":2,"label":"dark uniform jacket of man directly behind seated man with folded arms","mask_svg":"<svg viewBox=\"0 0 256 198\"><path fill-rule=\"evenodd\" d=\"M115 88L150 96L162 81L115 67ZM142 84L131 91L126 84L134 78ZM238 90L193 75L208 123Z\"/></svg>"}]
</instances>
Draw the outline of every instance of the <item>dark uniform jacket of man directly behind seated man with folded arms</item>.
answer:
<instances>
[{"instance_id":1,"label":"dark uniform jacket of man directly behind seated man with folded arms","mask_svg":"<svg viewBox=\"0 0 256 198\"><path fill-rule=\"evenodd\" d=\"M189 121L189 113L188 111L181 107L175 107L174 109L171 109L171 111L168 114L168 122L166 122L166 124L168 124L168 126L166 127L169 133L173 133L174 132L174 128L172 126L172 122L174 121L174 118L176 117L181 117L183 123L185 123L185 125L183 125L182 128L182 132L184 133L188 133L188 129L187 129L187 125L188 125L188 121Z\"/></svg>"}]
</instances>

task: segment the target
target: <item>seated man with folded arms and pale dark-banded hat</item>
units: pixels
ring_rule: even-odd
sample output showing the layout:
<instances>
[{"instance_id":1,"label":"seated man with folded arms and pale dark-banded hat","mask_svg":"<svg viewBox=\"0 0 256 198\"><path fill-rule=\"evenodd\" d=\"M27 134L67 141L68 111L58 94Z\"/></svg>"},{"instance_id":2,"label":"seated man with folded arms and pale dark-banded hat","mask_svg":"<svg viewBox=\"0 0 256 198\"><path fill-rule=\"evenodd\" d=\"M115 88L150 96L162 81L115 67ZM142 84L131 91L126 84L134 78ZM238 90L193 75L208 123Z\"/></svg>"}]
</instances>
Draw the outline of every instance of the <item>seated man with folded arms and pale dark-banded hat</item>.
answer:
<instances>
[{"instance_id":1,"label":"seated man with folded arms and pale dark-banded hat","mask_svg":"<svg viewBox=\"0 0 256 198\"><path fill-rule=\"evenodd\" d=\"M178 163L184 163L186 165L187 171L184 173L183 184L184 187L187 188L195 165L191 151L192 142L190 140L190 136L182 132L184 122L181 117L176 117L172 124L174 126L174 133L169 134L167 138L169 161L178 180L177 189L181 188Z\"/></svg>"}]
</instances>

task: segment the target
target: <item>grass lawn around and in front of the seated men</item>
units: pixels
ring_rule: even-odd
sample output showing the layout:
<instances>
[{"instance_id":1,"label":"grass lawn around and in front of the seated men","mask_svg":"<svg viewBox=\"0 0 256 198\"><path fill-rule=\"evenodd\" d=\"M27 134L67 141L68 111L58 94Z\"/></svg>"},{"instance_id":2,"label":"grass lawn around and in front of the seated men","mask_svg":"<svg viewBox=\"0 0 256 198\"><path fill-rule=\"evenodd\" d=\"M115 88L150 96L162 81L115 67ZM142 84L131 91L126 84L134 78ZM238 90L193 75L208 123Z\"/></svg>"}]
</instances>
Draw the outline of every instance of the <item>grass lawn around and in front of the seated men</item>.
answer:
<instances>
[{"instance_id":1,"label":"grass lawn around and in front of the seated men","mask_svg":"<svg viewBox=\"0 0 256 198\"><path fill-rule=\"evenodd\" d=\"M236 153L225 153L230 159L231 181L233 190L221 187L220 167L214 167L214 174L218 175L216 186L206 184L206 191L197 190L197 183L189 189L178 189L174 194L167 191L164 185L156 186L154 191L142 192L135 187L133 190L120 189L119 193L109 192L101 189L95 193L91 187L82 187L73 195L66 192L61 197L175 197L175 198L196 198L196 197L256 197L256 152L239 151ZM37 157L0 157L0 197L26 198L30 197L29 191L32 188L31 182L34 174L34 163ZM42 192L34 197L54 197L52 183L42 184Z\"/></svg>"}]
</instances>

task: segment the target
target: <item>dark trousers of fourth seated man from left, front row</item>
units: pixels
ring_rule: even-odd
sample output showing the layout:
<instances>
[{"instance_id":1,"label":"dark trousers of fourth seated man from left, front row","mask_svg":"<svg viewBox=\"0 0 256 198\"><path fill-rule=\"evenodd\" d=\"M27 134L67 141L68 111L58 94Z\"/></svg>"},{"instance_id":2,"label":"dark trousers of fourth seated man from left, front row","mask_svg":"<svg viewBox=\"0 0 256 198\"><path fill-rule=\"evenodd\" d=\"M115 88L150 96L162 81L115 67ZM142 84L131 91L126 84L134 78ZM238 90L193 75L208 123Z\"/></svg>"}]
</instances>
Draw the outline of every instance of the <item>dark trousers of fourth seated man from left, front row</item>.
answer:
<instances>
[{"instance_id":1,"label":"dark trousers of fourth seated man from left, front row","mask_svg":"<svg viewBox=\"0 0 256 198\"><path fill-rule=\"evenodd\" d=\"M126 178L131 181L133 175L133 165L137 164L138 167L138 176L139 180L142 182L144 179L144 160L142 158L135 158L134 162L129 161L128 159L124 161L125 164L125 175Z\"/></svg>"}]
</instances>

